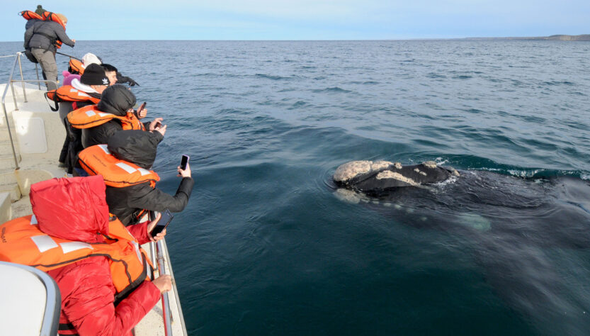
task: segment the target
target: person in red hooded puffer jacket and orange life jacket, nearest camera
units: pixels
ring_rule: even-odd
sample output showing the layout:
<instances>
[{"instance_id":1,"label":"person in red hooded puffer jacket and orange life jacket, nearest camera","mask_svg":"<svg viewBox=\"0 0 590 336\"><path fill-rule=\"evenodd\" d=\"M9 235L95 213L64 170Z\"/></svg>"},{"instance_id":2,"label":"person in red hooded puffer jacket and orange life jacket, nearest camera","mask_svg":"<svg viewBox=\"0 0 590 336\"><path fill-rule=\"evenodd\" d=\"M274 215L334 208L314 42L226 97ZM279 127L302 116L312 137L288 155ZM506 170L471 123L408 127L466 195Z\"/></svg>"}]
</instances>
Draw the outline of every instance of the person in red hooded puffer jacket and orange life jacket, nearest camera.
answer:
<instances>
[{"instance_id":1,"label":"person in red hooded puffer jacket and orange life jacket, nearest camera","mask_svg":"<svg viewBox=\"0 0 590 336\"><path fill-rule=\"evenodd\" d=\"M34 215L0 225L0 260L37 267L59 286L59 335L132 335L131 330L171 289L171 277L153 281L139 245L156 224L125 228L108 213L101 176L33 184Z\"/></svg>"}]
</instances>

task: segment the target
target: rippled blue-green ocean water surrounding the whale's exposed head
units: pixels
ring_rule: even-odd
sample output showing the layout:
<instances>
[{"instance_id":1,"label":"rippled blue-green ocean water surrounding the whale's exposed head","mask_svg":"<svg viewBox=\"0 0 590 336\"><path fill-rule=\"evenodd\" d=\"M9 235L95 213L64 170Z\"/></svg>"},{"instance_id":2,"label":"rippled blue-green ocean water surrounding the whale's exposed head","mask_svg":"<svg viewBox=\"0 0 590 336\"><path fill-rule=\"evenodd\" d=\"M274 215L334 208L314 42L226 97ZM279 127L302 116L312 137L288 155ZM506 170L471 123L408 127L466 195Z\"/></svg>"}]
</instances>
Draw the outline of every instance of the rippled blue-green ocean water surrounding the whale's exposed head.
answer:
<instances>
[{"instance_id":1,"label":"rippled blue-green ocean water surrounding the whale's exposed head","mask_svg":"<svg viewBox=\"0 0 590 336\"><path fill-rule=\"evenodd\" d=\"M170 171L191 156L193 196L166 237L191 335L588 334L590 43L61 51L141 84L138 102L169 126L161 189L174 193ZM461 177L346 201L331 174L356 159L433 160Z\"/></svg>"}]
</instances>

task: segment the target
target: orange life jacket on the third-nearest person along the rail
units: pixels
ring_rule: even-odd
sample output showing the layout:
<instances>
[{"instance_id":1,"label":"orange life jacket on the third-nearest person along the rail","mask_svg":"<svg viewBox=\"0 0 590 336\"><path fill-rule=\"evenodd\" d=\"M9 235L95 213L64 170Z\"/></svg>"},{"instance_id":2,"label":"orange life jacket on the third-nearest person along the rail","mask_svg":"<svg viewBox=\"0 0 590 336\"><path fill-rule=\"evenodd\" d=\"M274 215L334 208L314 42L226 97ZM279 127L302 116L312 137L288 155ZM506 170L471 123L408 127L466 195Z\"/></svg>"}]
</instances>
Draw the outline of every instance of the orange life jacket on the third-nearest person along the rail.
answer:
<instances>
[{"instance_id":1,"label":"orange life jacket on the third-nearest person along the rail","mask_svg":"<svg viewBox=\"0 0 590 336\"><path fill-rule=\"evenodd\" d=\"M67 115L67 120L73 128L92 128L102 125L107 121L118 119L123 125L123 130L145 130L145 126L137 119L135 113L127 112L127 116L115 116L113 113L106 113L98 110L96 105L78 108Z\"/></svg>"}]
</instances>

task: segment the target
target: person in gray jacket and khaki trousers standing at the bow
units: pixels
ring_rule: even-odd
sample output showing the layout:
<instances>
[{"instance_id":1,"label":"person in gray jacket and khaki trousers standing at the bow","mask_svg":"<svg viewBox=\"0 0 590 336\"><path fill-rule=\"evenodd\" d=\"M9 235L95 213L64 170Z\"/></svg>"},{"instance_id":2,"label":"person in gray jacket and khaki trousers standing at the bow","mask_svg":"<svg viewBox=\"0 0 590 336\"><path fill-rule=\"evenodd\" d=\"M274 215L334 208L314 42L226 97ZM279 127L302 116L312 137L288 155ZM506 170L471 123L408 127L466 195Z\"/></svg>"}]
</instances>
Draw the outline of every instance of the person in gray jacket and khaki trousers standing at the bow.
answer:
<instances>
[{"instance_id":1,"label":"person in gray jacket and khaki trousers standing at the bow","mask_svg":"<svg viewBox=\"0 0 590 336\"><path fill-rule=\"evenodd\" d=\"M66 34L67 18L63 14L55 14L56 20L36 21L33 26L25 32L24 47L30 50L33 57L41 65L43 78L57 83L57 63L55 62L55 52L57 41L61 41L74 47L76 40L70 40ZM59 18L59 19L58 19ZM47 90L57 89L57 84L47 83Z\"/></svg>"}]
</instances>

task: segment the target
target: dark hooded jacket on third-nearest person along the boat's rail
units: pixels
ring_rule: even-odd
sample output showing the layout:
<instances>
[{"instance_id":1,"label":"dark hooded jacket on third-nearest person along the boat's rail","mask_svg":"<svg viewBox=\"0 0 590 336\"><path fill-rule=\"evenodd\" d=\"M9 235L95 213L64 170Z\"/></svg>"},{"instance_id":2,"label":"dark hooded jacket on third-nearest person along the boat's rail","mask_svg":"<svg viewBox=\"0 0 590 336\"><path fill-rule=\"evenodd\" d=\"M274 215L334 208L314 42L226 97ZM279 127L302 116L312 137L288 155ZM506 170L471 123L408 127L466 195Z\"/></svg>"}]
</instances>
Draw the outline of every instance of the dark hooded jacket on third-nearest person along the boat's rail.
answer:
<instances>
[{"instance_id":1,"label":"dark hooded jacket on third-nearest person along the boat's rail","mask_svg":"<svg viewBox=\"0 0 590 336\"><path fill-rule=\"evenodd\" d=\"M103 91L101 101L96 106L98 110L113 113L115 116L126 116L127 110L135 105L135 95L126 86L115 84ZM108 142L110 135L123 130L123 125L117 119L107 121L102 125L82 130L82 145L84 148L101 145Z\"/></svg>"}]
</instances>

